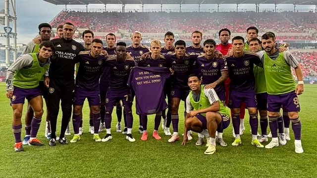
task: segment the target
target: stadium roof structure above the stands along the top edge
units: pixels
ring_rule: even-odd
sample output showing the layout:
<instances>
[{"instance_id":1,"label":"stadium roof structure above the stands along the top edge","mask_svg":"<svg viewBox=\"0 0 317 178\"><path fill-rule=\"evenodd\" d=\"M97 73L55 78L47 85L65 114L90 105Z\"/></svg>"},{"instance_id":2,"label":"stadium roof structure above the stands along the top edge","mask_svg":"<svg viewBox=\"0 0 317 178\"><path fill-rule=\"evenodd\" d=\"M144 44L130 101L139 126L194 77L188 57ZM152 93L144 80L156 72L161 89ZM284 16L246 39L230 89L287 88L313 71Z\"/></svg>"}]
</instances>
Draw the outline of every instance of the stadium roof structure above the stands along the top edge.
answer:
<instances>
[{"instance_id":1,"label":"stadium roof structure above the stands along the top edge","mask_svg":"<svg viewBox=\"0 0 317 178\"><path fill-rule=\"evenodd\" d=\"M44 0L55 5L88 4L294 4L317 5L317 0Z\"/></svg>"}]
</instances>

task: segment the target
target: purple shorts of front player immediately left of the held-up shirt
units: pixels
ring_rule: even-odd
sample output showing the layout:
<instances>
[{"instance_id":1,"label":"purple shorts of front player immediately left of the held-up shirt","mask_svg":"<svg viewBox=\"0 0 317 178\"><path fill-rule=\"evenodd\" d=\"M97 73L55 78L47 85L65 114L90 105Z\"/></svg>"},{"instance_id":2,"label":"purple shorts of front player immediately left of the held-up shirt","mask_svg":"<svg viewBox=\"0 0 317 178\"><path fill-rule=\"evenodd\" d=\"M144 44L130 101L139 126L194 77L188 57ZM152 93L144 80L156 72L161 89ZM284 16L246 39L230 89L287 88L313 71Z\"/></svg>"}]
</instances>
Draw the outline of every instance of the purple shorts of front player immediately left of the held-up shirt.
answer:
<instances>
[{"instance_id":1,"label":"purple shorts of front player immediately left of the held-up shirt","mask_svg":"<svg viewBox=\"0 0 317 178\"><path fill-rule=\"evenodd\" d=\"M122 106L124 106L124 109L127 113L132 112L132 102L131 102L131 91L130 89L124 89L124 90L111 90L108 89L106 94L106 112L112 113L113 106L117 101L122 101Z\"/></svg>"}]
</instances>

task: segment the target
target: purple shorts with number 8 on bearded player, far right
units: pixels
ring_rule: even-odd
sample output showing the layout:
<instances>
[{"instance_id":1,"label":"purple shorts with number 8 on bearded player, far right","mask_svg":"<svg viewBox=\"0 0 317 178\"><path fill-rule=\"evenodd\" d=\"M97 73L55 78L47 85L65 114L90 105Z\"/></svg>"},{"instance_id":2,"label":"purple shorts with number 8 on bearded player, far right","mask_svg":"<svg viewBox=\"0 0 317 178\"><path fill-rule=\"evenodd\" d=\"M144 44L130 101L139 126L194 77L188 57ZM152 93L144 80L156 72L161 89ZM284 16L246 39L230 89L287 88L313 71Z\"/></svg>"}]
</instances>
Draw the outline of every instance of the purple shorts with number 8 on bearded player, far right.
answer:
<instances>
[{"instance_id":1,"label":"purple shorts with number 8 on bearded player, far right","mask_svg":"<svg viewBox=\"0 0 317 178\"><path fill-rule=\"evenodd\" d=\"M297 94L294 91L285 94L268 94L267 95L267 110L269 112L279 112L281 107L287 112L300 111L301 106ZM283 111L284 112L284 111Z\"/></svg>"}]
</instances>

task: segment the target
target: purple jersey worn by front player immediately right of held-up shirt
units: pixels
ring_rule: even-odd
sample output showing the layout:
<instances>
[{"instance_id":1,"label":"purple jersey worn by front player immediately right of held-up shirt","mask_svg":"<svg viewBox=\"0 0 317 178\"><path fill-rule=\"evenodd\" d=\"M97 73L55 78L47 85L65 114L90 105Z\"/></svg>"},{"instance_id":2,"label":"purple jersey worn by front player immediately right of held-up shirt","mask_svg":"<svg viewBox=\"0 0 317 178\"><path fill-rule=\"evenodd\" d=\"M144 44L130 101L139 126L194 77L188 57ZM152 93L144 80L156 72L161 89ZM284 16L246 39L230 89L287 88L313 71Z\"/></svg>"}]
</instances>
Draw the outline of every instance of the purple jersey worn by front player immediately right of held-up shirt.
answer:
<instances>
[{"instance_id":1,"label":"purple jersey worn by front player immediately right of held-up shirt","mask_svg":"<svg viewBox=\"0 0 317 178\"><path fill-rule=\"evenodd\" d=\"M174 69L172 76L172 87L189 90L188 76L193 73L194 63L198 57L196 53L185 53L182 59L176 57L176 53L164 53L165 58L170 62L170 67Z\"/></svg>"}]
</instances>

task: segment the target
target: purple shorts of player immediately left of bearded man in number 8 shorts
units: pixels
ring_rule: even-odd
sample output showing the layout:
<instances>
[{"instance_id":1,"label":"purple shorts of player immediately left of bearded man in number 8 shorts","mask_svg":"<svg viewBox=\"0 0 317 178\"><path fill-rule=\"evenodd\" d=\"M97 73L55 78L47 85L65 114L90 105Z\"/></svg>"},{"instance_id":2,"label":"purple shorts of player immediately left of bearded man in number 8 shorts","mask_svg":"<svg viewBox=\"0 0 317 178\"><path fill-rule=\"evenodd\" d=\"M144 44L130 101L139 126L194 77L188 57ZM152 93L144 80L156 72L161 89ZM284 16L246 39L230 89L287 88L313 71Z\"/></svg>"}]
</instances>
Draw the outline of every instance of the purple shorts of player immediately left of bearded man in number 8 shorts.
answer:
<instances>
[{"instance_id":1,"label":"purple shorts of player immediately left of bearded man in number 8 shorts","mask_svg":"<svg viewBox=\"0 0 317 178\"><path fill-rule=\"evenodd\" d=\"M256 92L254 90L248 90L248 91L230 90L228 107L240 108L242 102L245 102L246 106L250 108L258 107Z\"/></svg>"}]
</instances>

